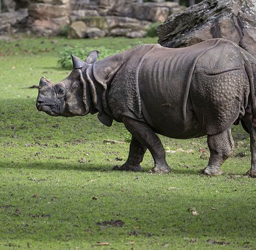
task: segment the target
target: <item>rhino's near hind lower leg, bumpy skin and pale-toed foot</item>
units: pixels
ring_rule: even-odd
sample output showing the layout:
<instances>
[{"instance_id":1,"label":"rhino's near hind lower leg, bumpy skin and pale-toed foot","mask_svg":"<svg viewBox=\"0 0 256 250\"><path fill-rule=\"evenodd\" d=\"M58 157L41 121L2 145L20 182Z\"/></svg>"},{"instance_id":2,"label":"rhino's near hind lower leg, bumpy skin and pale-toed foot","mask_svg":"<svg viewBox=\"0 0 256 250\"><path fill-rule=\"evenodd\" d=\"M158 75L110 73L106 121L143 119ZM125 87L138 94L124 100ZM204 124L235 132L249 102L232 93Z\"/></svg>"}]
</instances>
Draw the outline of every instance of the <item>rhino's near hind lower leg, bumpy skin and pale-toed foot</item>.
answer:
<instances>
[{"instance_id":1,"label":"rhino's near hind lower leg, bumpy skin and pale-toed foot","mask_svg":"<svg viewBox=\"0 0 256 250\"><path fill-rule=\"evenodd\" d=\"M221 164L228 159L234 148L234 141L230 128L216 135L208 135L207 143L210 149L208 166L203 169L204 174L217 176L222 174Z\"/></svg>"}]
</instances>

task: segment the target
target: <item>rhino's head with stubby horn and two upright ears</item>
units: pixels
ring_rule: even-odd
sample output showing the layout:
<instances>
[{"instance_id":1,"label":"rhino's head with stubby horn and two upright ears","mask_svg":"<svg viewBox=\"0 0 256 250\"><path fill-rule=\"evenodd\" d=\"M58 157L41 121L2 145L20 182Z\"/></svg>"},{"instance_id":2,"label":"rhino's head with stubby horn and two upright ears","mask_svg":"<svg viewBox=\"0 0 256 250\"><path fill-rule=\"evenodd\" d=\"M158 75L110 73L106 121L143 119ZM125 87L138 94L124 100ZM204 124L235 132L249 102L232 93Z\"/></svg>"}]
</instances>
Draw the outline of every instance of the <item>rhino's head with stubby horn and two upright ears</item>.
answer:
<instances>
[{"instance_id":1,"label":"rhino's head with stubby horn and two upright ears","mask_svg":"<svg viewBox=\"0 0 256 250\"><path fill-rule=\"evenodd\" d=\"M75 116L86 115L90 111L90 99L86 93L83 72L97 60L98 51L89 53L87 59L82 61L71 55L73 70L71 74L57 84L42 77L39 82L38 99L36 107L52 116Z\"/></svg>"}]
</instances>

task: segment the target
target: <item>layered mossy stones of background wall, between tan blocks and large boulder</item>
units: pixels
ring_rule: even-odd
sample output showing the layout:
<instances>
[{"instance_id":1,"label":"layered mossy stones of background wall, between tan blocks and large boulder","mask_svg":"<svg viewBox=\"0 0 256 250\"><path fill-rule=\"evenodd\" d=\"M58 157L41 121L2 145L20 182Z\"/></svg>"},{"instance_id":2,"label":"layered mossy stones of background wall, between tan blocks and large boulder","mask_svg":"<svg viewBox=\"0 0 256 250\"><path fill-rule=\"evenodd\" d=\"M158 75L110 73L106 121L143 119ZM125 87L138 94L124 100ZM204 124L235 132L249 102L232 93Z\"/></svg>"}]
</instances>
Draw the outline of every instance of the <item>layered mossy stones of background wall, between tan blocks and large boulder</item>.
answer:
<instances>
[{"instance_id":1,"label":"layered mossy stones of background wall, between tan blocks and large boulder","mask_svg":"<svg viewBox=\"0 0 256 250\"><path fill-rule=\"evenodd\" d=\"M181 7L174 2L148 2L139 4L132 0L100 0L98 5L87 3L71 13L69 38L101 36L127 36L142 38L152 22L163 22Z\"/></svg>"}]
</instances>

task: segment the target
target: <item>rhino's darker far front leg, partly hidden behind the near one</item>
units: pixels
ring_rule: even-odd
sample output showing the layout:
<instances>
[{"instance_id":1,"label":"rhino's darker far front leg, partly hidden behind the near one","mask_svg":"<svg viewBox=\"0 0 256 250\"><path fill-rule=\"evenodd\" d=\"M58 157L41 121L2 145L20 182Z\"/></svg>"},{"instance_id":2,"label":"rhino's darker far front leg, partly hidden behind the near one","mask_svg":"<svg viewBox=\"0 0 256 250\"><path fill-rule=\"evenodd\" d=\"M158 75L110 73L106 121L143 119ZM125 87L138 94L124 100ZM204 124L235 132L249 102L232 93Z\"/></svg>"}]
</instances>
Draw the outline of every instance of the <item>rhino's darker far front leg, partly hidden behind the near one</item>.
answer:
<instances>
[{"instance_id":1,"label":"rhino's darker far front leg, partly hidden behind the near one","mask_svg":"<svg viewBox=\"0 0 256 250\"><path fill-rule=\"evenodd\" d=\"M133 136L127 161L120 167L115 166L114 170L141 171L142 168L139 164L142 162L146 150L147 147Z\"/></svg>"}]
</instances>

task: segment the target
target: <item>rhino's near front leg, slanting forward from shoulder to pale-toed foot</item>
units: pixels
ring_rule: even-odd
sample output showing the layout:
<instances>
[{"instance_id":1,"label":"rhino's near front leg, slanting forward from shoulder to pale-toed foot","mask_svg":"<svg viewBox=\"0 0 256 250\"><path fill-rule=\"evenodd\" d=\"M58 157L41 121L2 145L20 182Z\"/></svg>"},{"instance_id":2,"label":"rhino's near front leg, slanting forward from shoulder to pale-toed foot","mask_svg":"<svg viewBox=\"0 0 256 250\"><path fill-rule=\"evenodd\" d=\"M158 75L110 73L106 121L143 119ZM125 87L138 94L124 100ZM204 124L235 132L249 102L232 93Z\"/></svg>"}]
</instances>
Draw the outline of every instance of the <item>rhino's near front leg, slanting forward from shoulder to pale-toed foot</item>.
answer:
<instances>
[{"instance_id":1,"label":"rhino's near front leg, slanting forward from shoulder to pale-toed foot","mask_svg":"<svg viewBox=\"0 0 256 250\"><path fill-rule=\"evenodd\" d=\"M133 135L133 137L137 139L137 141L139 141L140 144L144 145L144 147L148 148L148 150L150 151L155 161L155 166L152 169L152 172L153 173L171 172L170 166L168 166L168 164L166 163L166 152L164 152L163 145L159 140L158 136L152 130L152 128L148 126L146 123L139 122L137 120L127 118L127 117L123 118L123 123L125 124L125 127L127 128L127 130L129 130L131 135ZM131 154L130 160L131 158L133 158L133 160L136 161L134 154ZM142 159L139 159L139 160L142 160Z\"/></svg>"}]
</instances>

